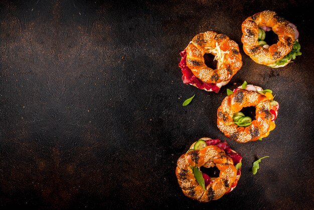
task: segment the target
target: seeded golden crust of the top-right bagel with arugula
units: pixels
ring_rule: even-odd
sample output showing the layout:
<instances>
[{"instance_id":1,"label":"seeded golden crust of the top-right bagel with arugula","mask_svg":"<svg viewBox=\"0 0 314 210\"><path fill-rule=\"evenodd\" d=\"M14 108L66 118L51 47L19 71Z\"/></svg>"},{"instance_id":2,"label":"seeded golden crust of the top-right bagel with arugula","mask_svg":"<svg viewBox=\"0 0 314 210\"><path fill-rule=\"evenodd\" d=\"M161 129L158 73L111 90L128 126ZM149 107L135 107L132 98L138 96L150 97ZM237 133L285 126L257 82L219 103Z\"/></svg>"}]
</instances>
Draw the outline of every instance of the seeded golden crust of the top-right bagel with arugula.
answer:
<instances>
[{"instance_id":1,"label":"seeded golden crust of the top-right bagel with arugula","mask_svg":"<svg viewBox=\"0 0 314 210\"><path fill-rule=\"evenodd\" d=\"M263 26L271 27L278 35L279 41L268 49L258 44L258 28ZM292 27L273 11L263 11L248 17L242 23L242 33L243 51L254 62L263 65L274 64L281 60L291 51L294 41Z\"/></svg>"}]
</instances>

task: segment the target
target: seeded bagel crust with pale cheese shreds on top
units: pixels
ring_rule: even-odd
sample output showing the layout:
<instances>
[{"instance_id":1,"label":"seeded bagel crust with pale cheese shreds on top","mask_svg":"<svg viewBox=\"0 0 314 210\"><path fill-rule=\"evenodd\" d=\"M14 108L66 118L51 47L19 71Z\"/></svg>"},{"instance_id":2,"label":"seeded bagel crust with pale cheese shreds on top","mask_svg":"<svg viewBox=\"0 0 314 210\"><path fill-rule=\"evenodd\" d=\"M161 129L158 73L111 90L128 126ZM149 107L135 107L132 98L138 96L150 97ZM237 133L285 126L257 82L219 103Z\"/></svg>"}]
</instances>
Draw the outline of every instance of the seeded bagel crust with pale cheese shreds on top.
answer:
<instances>
[{"instance_id":1,"label":"seeded bagel crust with pale cheese shreds on top","mask_svg":"<svg viewBox=\"0 0 314 210\"><path fill-rule=\"evenodd\" d=\"M192 39L186 51L187 66L205 83L229 81L242 67L238 44L224 34L212 31L200 33ZM205 53L211 53L218 59L217 69L205 65Z\"/></svg>"}]
</instances>

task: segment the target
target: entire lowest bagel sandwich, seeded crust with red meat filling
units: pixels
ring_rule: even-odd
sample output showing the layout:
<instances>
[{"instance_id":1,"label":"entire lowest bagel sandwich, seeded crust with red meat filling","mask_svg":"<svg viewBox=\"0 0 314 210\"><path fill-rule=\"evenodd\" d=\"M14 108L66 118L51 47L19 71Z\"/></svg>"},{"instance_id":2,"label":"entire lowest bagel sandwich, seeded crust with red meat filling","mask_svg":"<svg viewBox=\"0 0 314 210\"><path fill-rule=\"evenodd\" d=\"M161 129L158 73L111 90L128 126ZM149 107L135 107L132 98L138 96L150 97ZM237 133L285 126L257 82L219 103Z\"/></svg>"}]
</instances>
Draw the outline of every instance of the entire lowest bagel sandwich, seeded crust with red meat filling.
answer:
<instances>
[{"instance_id":1,"label":"entire lowest bagel sandwich, seeded crust with red meat filling","mask_svg":"<svg viewBox=\"0 0 314 210\"><path fill-rule=\"evenodd\" d=\"M176 175L183 193L200 202L217 200L235 188L241 175L241 167L236 169L236 163L241 163L240 154L232 150L226 142L219 139L201 138L207 146L190 150L183 154L177 162ZM200 141L199 140L199 141ZM202 186L195 175L195 169L214 167L219 170L219 177L209 177L200 172L202 177L208 177Z\"/></svg>"}]
</instances>

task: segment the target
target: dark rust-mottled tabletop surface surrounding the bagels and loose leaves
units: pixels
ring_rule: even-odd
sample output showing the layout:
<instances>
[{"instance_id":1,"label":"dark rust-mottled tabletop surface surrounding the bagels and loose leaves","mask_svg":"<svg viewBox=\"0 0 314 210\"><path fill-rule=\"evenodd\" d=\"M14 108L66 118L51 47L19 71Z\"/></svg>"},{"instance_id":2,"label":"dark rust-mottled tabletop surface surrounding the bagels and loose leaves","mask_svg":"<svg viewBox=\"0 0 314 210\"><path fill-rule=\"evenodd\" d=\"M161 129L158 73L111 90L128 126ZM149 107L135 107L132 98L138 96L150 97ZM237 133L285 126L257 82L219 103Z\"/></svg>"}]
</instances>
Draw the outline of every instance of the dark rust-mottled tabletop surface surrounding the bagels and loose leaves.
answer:
<instances>
[{"instance_id":1,"label":"dark rust-mottled tabletop surface surrounding the bagels and loose leaves","mask_svg":"<svg viewBox=\"0 0 314 210\"><path fill-rule=\"evenodd\" d=\"M310 2L1 1L0 208L314 209ZM242 22L263 10L300 32L303 55L284 68L242 50ZM243 57L218 94L184 85L178 67L179 52L209 30ZM244 80L273 90L280 109L267 138L241 144L218 130L216 111ZM243 156L237 188L210 203L186 197L175 176L201 137Z\"/></svg>"}]
</instances>

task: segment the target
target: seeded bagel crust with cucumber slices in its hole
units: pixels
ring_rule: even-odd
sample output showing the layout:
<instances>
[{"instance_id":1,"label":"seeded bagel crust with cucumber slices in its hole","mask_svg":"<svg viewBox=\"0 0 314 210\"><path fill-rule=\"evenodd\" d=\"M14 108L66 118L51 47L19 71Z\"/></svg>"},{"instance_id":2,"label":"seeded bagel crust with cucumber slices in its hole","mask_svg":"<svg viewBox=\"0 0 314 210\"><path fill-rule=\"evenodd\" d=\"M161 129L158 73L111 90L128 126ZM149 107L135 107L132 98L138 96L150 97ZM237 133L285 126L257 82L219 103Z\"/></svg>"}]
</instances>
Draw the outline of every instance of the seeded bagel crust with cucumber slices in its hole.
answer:
<instances>
[{"instance_id":1,"label":"seeded bagel crust with cucumber slices in its hole","mask_svg":"<svg viewBox=\"0 0 314 210\"><path fill-rule=\"evenodd\" d=\"M243 107L255 106L255 120L248 127L234 124L233 114ZM256 91L237 90L225 97L217 110L217 126L225 136L237 142L256 141L269 132L271 122L270 100Z\"/></svg>"}]
</instances>

